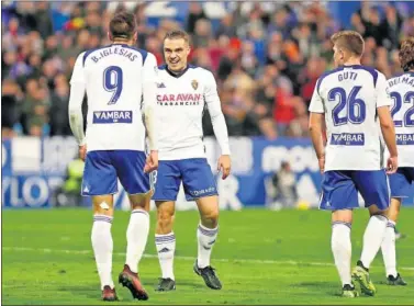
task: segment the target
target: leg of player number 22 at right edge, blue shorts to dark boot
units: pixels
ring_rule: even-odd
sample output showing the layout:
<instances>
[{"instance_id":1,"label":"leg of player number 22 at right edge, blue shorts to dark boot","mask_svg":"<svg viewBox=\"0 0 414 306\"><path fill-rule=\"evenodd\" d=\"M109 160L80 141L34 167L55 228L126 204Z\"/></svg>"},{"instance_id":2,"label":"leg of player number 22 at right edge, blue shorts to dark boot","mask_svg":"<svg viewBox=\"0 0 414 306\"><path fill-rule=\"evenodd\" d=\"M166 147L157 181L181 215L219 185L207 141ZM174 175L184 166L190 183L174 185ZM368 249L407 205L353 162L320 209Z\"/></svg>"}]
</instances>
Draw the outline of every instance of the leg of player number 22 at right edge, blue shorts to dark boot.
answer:
<instances>
[{"instance_id":1,"label":"leg of player number 22 at right edge, blue shorts to dark boot","mask_svg":"<svg viewBox=\"0 0 414 306\"><path fill-rule=\"evenodd\" d=\"M391 205L388 211L388 225L381 245L382 258L385 265L387 283L389 285L406 285L396 271L395 257L395 225L400 214L403 197L410 195L411 175L410 168L400 168L396 173L389 175L391 189Z\"/></svg>"}]
</instances>

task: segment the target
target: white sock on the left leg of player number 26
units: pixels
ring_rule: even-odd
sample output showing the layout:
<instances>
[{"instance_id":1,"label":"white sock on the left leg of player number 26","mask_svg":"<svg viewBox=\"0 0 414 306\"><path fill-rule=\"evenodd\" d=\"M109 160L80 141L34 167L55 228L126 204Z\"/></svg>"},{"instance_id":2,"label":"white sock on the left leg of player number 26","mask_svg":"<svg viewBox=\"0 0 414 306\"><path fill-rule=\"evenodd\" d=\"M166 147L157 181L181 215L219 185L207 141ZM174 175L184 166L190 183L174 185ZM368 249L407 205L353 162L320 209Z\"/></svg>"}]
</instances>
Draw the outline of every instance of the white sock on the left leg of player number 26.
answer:
<instances>
[{"instance_id":1,"label":"white sock on the left leg of player number 26","mask_svg":"<svg viewBox=\"0 0 414 306\"><path fill-rule=\"evenodd\" d=\"M343 286L351 284L350 260L353 248L350 243L350 226L349 223L344 222L334 222L332 224L331 247Z\"/></svg>"}]
</instances>

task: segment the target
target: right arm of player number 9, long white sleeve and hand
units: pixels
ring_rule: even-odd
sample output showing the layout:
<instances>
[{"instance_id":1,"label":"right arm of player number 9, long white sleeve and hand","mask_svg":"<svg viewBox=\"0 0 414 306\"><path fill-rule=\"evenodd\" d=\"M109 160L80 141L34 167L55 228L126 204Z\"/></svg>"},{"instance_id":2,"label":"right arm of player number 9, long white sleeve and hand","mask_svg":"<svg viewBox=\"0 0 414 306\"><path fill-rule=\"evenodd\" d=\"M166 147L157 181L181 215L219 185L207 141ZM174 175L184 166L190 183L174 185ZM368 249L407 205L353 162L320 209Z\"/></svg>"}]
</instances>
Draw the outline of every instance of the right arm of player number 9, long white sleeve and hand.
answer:
<instances>
[{"instance_id":1,"label":"right arm of player number 9, long white sleeve and hand","mask_svg":"<svg viewBox=\"0 0 414 306\"><path fill-rule=\"evenodd\" d=\"M157 60L148 53L144 64L143 95L144 95L144 121L148 135L150 154L145 165L145 172L154 171L158 168L158 131L156 124L156 87Z\"/></svg>"}]
</instances>

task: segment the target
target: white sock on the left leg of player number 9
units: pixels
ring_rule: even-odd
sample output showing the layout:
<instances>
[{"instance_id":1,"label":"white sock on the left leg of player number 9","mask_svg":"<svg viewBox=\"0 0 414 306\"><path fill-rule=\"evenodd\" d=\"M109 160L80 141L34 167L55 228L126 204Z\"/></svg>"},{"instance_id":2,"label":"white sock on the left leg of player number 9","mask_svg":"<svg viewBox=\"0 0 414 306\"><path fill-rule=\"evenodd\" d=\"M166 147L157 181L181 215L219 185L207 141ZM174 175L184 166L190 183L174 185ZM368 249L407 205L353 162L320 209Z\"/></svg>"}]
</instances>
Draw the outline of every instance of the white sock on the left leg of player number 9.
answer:
<instances>
[{"instance_id":1,"label":"white sock on the left leg of player number 9","mask_svg":"<svg viewBox=\"0 0 414 306\"><path fill-rule=\"evenodd\" d=\"M91 240L94 260L97 261L98 273L101 280L101 290L107 285L111 288L114 287L112 281L112 219L113 217L105 215L93 216Z\"/></svg>"}]
</instances>

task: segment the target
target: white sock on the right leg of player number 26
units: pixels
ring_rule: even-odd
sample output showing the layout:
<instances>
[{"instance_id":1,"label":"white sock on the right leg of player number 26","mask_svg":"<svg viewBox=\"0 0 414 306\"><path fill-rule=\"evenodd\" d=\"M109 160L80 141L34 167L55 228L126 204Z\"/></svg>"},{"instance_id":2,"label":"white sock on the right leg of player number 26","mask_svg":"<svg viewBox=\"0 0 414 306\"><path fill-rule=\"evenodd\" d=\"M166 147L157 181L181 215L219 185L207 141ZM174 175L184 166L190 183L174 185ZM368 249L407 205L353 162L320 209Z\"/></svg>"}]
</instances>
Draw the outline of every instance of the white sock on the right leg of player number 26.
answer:
<instances>
[{"instance_id":1,"label":"white sock on the right leg of player number 26","mask_svg":"<svg viewBox=\"0 0 414 306\"><path fill-rule=\"evenodd\" d=\"M365 268L369 269L372 260L376 258L381 247L385 234L388 218L381 215L374 215L369 218L367 228L363 234L363 246L361 261Z\"/></svg>"}]
</instances>

